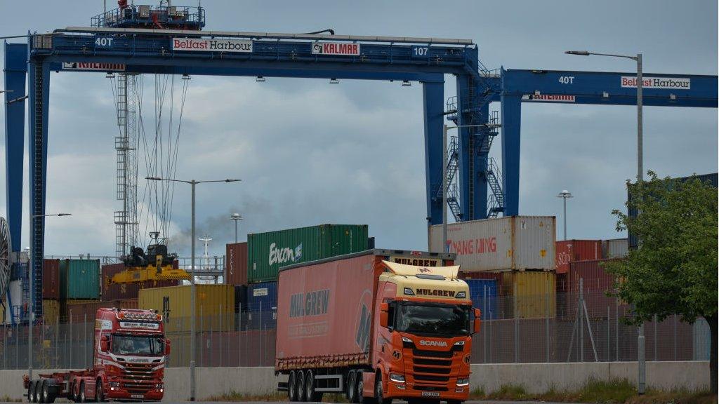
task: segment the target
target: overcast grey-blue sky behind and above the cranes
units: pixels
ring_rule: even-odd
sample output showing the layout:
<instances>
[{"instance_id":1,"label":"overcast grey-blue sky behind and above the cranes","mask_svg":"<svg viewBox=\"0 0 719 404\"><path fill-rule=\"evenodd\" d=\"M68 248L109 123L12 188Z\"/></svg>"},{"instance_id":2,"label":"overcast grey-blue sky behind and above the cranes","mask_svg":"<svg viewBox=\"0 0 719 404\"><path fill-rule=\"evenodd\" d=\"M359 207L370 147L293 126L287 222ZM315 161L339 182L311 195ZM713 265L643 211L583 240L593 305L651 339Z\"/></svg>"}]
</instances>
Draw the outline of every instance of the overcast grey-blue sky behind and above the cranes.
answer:
<instances>
[{"instance_id":1,"label":"overcast grey-blue sky behind and above the cranes","mask_svg":"<svg viewBox=\"0 0 719 404\"><path fill-rule=\"evenodd\" d=\"M196 6L194 0L174 3ZM635 69L630 60L563 54L588 49L642 52L646 73L717 74L716 1L204 0L202 5L206 29L214 30L332 28L342 35L467 38L490 68ZM101 11L101 0L0 0L0 35L89 25ZM102 73L51 77L47 213L73 216L47 219L45 252L114 254L113 212L121 205L115 200L117 127L110 81ZM145 77L148 135L154 80ZM445 80L445 96L454 95L454 78ZM0 122L4 128L4 111ZM623 206L625 181L636 175L636 108L523 104L521 127L520 213L557 216L561 224L562 201L556 196L567 189L574 194L567 213L570 238L623 237L615 232L610 211ZM499 145L497 139L492 152L498 160ZM644 147L644 167L659 175L716 172L717 110L646 107ZM242 183L198 185L198 234L214 238L212 253L223 254L224 243L234 239L233 212L245 218L240 240L247 232L369 224L377 247L427 247L418 84L194 77L178 159L177 178L242 178ZM4 148L0 160L4 178ZM141 180L141 192L144 186ZM169 234L170 250L183 255L189 252L189 191L184 185L175 189ZM4 215L4 186L0 196ZM24 247L27 202L23 209Z\"/></svg>"}]
</instances>

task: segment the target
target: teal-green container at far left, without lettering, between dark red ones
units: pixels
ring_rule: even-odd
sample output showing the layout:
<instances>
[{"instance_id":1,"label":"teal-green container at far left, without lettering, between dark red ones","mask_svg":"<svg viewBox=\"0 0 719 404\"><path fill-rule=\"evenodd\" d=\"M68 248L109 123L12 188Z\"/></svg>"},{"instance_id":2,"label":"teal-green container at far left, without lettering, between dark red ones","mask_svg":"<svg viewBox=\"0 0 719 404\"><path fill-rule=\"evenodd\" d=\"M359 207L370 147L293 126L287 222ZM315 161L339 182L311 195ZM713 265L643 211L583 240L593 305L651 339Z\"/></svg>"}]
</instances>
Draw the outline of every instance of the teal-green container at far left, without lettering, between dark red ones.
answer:
<instances>
[{"instance_id":1,"label":"teal-green container at far left, without lettering, between dark red ones","mask_svg":"<svg viewBox=\"0 0 719 404\"><path fill-rule=\"evenodd\" d=\"M100 260L61 260L60 299L97 299Z\"/></svg>"}]
</instances>

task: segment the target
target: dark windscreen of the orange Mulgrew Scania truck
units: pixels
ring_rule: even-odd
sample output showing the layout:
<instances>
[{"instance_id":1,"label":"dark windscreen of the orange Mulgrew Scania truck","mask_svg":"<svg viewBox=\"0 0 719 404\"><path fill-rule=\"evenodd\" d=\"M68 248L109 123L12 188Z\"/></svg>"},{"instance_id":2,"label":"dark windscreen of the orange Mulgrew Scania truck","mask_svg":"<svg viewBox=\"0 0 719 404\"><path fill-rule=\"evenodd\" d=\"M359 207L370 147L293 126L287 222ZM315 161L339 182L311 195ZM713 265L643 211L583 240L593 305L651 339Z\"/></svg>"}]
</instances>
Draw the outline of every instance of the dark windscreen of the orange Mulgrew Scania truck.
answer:
<instances>
[{"instance_id":1,"label":"dark windscreen of the orange Mulgrew Scania truck","mask_svg":"<svg viewBox=\"0 0 719 404\"><path fill-rule=\"evenodd\" d=\"M470 334L470 309L464 306L400 303L396 316L397 331L436 336Z\"/></svg>"}]
</instances>

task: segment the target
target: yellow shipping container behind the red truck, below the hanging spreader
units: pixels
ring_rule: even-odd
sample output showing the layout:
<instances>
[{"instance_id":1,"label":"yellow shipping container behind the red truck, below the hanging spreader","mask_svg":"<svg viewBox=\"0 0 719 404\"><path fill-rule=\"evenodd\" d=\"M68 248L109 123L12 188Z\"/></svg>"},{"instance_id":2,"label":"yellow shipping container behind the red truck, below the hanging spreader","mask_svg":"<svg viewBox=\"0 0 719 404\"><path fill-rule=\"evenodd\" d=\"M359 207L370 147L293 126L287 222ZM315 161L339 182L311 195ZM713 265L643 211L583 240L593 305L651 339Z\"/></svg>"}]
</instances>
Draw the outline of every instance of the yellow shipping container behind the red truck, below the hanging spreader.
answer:
<instances>
[{"instance_id":1,"label":"yellow shipping container behind the red truck, below the hanging spreader","mask_svg":"<svg viewBox=\"0 0 719 404\"><path fill-rule=\"evenodd\" d=\"M196 285L196 330L234 329L234 285ZM191 285L139 291L139 308L157 310L165 332L189 331L192 308Z\"/></svg>"}]
</instances>

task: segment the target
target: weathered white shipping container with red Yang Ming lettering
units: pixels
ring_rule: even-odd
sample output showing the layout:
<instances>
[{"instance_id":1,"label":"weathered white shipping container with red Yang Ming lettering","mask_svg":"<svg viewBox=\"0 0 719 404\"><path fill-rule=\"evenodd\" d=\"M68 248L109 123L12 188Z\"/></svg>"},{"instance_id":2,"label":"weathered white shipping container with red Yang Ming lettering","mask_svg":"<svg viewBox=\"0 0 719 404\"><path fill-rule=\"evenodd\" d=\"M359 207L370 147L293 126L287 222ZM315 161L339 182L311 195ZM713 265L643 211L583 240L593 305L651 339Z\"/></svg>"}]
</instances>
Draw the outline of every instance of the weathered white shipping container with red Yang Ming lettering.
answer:
<instances>
[{"instance_id":1,"label":"weathered white shipping container with red Yang Ming lettering","mask_svg":"<svg viewBox=\"0 0 719 404\"><path fill-rule=\"evenodd\" d=\"M449 252L463 272L554 270L554 216L508 216L447 225ZM441 252L442 226L429 229L429 251Z\"/></svg>"}]
</instances>

